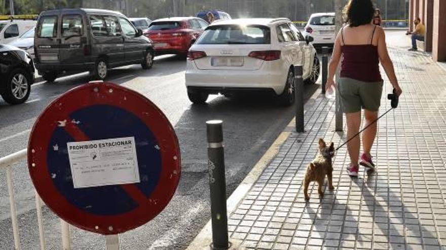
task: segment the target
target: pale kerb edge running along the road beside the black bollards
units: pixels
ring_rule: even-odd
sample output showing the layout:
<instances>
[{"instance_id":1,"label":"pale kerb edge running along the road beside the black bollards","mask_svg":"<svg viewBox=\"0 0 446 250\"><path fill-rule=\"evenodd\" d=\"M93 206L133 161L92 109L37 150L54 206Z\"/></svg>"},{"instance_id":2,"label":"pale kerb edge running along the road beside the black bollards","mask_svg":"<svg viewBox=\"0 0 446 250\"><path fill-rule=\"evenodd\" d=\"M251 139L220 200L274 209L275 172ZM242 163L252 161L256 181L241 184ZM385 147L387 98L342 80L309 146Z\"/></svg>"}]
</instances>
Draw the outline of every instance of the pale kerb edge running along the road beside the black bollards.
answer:
<instances>
[{"instance_id":1,"label":"pale kerb edge running along the road beside the black bollards","mask_svg":"<svg viewBox=\"0 0 446 250\"><path fill-rule=\"evenodd\" d=\"M306 107L312 106L316 101L316 98L321 94L321 89L318 88L313 95L308 99L305 104ZM304 115L307 110L304 111ZM248 191L251 189L252 185L257 181L258 177L263 173L264 169L268 164L274 159L274 157L279 152L279 148L286 141L288 136L294 131L295 118L293 118L285 129L279 134L273 144L268 148L267 152L262 156L260 160L254 165L249 174L243 179L239 186L234 190L231 196L227 199L227 211L228 217L237 209L238 205L243 201ZM229 249L245 249L241 246L242 241L239 239L229 238L232 243ZM194 238L194 240L189 244L187 250L196 249L212 249L210 244L212 242L212 225L211 220L209 220L200 233Z\"/></svg>"}]
</instances>

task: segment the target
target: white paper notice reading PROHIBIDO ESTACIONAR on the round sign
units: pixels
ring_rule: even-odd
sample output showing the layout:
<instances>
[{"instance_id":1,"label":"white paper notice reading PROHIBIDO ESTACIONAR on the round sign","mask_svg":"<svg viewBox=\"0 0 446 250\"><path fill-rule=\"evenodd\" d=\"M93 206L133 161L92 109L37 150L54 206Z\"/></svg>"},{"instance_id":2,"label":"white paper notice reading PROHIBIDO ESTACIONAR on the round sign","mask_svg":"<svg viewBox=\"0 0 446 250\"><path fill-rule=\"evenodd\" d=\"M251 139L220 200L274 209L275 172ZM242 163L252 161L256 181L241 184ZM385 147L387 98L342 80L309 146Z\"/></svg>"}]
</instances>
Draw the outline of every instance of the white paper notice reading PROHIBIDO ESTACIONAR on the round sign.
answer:
<instances>
[{"instance_id":1,"label":"white paper notice reading PROHIBIDO ESTACIONAR on the round sign","mask_svg":"<svg viewBox=\"0 0 446 250\"><path fill-rule=\"evenodd\" d=\"M75 188L139 182L135 137L68 142Z\"/></svg>"}]
</instances>

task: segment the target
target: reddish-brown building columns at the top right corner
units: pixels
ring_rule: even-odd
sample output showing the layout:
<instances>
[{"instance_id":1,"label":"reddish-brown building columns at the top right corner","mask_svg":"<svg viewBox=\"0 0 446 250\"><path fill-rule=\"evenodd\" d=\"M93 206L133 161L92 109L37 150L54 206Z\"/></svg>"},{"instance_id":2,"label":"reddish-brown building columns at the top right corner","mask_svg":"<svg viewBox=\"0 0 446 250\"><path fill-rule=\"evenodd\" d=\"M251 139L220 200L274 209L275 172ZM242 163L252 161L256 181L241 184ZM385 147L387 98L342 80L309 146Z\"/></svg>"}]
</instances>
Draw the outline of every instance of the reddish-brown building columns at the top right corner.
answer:
<instances>
[{"instance_id":1,"label":"reddish-brown building columns at the top right corner","mask_svg":"<svg viewBox=\"0 0 446 250\"><path fill-rule=\"evenodd\" d=\"M437 62L446 62L446 0L410 0L410 29L414 30L414 20L419 17L426 26L424 48L432 53Z\"/></svg>"}]
</instances>

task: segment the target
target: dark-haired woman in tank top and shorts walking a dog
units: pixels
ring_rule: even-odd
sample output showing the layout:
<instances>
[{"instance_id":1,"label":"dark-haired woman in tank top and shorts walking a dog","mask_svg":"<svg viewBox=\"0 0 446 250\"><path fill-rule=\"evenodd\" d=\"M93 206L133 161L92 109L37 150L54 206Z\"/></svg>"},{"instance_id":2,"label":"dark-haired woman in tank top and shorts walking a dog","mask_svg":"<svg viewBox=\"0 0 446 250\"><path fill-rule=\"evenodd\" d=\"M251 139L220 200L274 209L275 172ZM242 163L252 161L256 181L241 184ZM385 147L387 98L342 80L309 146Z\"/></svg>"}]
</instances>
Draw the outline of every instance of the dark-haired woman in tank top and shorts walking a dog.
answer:
<instances>
[{"instance_id":1,"label":"dark-haired woman in tank top and shorts walking a dog","mask_svg":"<svg viewBox=\"0 0 446 250\"><path fill-rule=\"evenodd\" d=\"M383 66L396 94L402 92L395 76L392 61L387 53L384 30L371 24L375 9L370 0L350 0L346 8L346 25L340 30L334 42L333 54L328 67L327 90L337 87L340 95L341 109L346 115L347 138L351 138L361 125L361 109L364 110L365 124L369 125L378 118L383 80L379 63ZM334 83L334 73L339 61L341 75L339 82ZM366 168L375 168L371 160L370 150L377 132L377 123L362 133L363 153L359 164ZM360 138L356 136L348 142L350 165L347 172L350 176L358 176Z\"/></svg>"}]
</instances>

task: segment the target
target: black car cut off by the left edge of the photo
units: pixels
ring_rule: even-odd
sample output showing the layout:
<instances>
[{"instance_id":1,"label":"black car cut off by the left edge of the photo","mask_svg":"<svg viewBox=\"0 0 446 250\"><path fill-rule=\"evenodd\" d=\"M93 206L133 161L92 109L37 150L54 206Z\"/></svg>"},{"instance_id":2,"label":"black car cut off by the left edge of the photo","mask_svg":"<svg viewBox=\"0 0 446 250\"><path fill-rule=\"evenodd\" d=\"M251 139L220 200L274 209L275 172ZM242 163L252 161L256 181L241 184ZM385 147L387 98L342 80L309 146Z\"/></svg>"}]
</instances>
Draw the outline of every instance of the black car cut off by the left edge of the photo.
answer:
<instances>
[{"instance_id":1,"label":"black car cut off by the left edge of the photo","mask_svg":"<svg viewBox=\"0 0 446 250\"><path fill-rule=\"evenodd\" d=\"M34 83L34 66L29 54L0 44L0 95L9 104L24 103Z\"/></svg>"}]
</instances>

